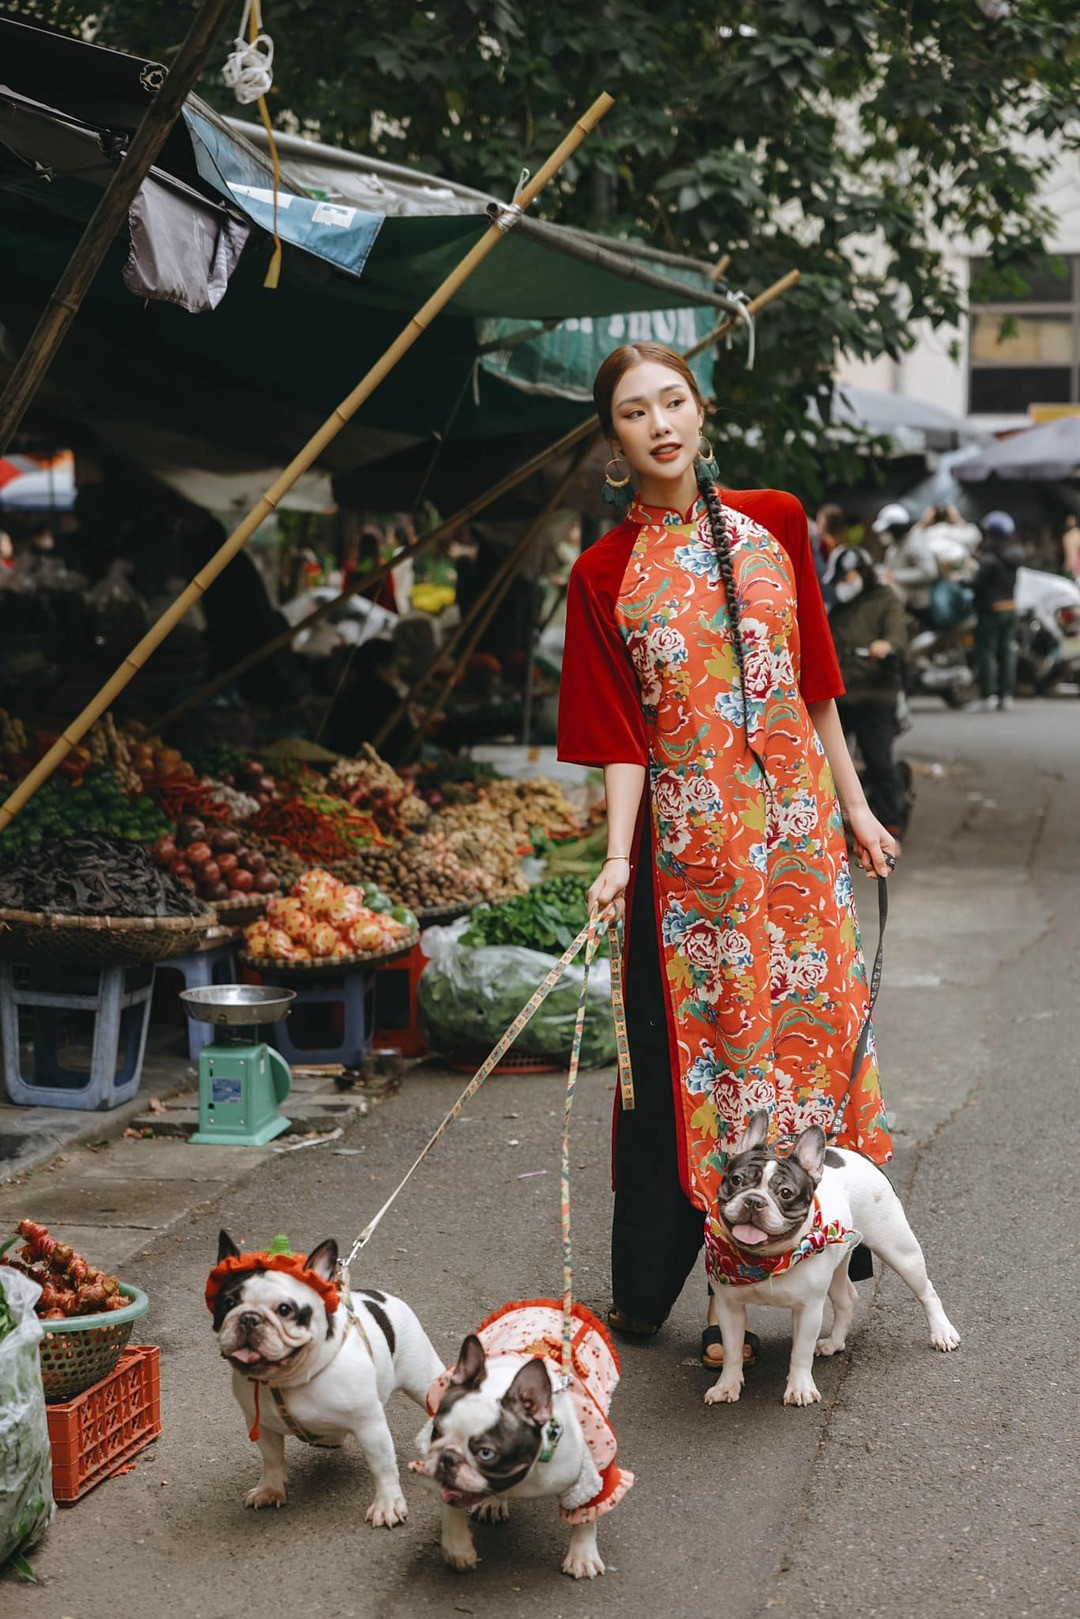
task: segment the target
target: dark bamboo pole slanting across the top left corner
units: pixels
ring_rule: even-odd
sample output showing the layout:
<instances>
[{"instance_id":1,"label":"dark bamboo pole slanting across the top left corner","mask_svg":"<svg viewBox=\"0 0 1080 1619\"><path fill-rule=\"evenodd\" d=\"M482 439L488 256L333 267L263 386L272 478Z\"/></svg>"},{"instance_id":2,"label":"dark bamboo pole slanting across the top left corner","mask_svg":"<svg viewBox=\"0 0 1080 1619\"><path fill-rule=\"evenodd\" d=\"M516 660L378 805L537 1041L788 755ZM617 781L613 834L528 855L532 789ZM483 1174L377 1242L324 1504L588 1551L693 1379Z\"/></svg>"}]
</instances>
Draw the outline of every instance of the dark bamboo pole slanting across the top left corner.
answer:
<instances>
[{"instance_id":1,"label":"dark bamboo pole slanting across the top left corner","mask_svg":"<svg viewBox=\"0 0 1080 1619\"><path fill-rule=\"evenodd\" d=\"M0 395L0 455L6 450L28 405L44 382L57 350L68 335L68 327L102 267L113 236L128 217L128 209L134 202L139 186L180 117L230 5L232 0L202 0L165 83L146 108L131 146L91 214L79 244Z\"/></svg>"}]
</instances>

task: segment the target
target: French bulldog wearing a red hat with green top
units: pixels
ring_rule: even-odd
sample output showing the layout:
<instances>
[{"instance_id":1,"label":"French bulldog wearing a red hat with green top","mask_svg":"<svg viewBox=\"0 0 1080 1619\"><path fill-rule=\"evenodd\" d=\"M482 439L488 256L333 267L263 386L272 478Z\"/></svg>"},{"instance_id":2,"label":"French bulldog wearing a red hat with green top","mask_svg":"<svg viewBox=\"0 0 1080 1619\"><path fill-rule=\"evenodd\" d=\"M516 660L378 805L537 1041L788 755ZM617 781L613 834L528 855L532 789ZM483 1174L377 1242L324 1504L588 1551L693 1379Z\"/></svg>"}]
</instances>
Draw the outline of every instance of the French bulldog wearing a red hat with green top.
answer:
<instances>
[{"instance_id":1,"label":"French bulldog wearing a red hat with green top","mask_svg":"<svg viewBox=\"0 0 1080 1619\"><path fill-rule=\"evenodd\" d=\"M222 1232L219 1263L232 1256L240 1258L240 1248ZM332 1284L337 1256L330 1239L301 1263ZM405 1522L406 1507L384 1405L393 1389L424 1405L442 1362L402 1298L361 1289L351 1302L363 1332L350 1323L345 1300L329 1310L316 1285L257 1266L228 1276L214 1298L217 1344L262 1455L259 1483L244 1506L285 1506L287 1433L298 1428L321 1446L340 1446L353 1434L376 1483L368 1522L393 1528ZM270 1391L280 1391L290 1421Z\"/></svg>"}]
</instances>

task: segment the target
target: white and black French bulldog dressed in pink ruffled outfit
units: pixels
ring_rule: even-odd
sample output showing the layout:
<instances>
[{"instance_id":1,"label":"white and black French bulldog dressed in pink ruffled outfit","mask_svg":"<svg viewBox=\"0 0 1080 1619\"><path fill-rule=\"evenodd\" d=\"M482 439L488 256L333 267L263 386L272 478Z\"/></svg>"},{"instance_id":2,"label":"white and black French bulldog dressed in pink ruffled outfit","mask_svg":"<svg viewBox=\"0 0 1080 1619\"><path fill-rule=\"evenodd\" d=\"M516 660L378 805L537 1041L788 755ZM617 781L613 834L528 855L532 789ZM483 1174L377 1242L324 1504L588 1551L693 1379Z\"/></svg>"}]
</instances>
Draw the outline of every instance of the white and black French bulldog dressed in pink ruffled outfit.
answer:
<instances>
[{"instance_id":1,"label":"white and black French bulldog dressed in pink ruffled outfit","mask_svg":"<svg viewBox=\"0 0 1080 1619\"><path fill-rule=\"evenodd\" d=\"M442 1370L442 1368L440 1368ZM555 1438L554 1451L551 1449ZM508 1501L575 1499L591 1473L573 1397L552 1387L544 1360L484 1355L470 1332L431 1423L419 1433L423 1460L410 1472L442 1496L442 1556L452 1569L478 1564L470 1515L491 1523L510 1515ZM593 1480L596 1475L593 1473ZM586 1498L593 1493L586 1486ZM596 1522L575 1523L562 1572L575 1580L604 1574Z\"/></svg>"}]
</instances>

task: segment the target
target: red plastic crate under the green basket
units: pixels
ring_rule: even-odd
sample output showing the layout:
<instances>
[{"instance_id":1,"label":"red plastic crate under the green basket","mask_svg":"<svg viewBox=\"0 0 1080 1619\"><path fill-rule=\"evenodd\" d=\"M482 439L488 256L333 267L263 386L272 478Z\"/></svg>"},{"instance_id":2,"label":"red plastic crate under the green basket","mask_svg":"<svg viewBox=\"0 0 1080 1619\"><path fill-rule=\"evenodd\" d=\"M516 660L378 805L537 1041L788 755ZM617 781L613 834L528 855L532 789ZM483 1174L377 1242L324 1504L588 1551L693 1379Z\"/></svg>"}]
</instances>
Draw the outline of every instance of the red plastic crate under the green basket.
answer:
<instances>
[{"instance_id":1,"label":"red plastic crate under the green basket","mask_svg":"<svg viewBox=\"0 0 1080 1619\"><path fill-rule=\"evenodd\" d=\"M52 1493L71 1504L110 1478L162 1431L160 1350L125 1349L115 1371L84 1394L47 1407Z\"/></svg>"}]
</instances>

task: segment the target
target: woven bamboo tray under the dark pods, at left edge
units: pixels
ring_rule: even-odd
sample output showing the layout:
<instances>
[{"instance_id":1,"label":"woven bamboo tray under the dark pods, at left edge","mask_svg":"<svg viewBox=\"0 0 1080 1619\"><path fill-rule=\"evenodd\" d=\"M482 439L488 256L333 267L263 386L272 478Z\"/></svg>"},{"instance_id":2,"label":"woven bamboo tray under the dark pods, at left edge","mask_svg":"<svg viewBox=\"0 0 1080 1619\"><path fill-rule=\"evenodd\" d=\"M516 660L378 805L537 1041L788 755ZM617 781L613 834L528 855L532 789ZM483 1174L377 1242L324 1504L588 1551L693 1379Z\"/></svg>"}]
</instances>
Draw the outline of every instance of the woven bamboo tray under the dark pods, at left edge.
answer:
<instances>
[{"instance_id":1,"label":"woven bamboo tray under the dark pods, at left edge","mask_svg":"<svg viewBox=\"0 0 1080 1619\"><path fill-rule=\"evenodd\" d=\"M62 916L0 907L0 955L53 967L141 967L186 955L214 926L198 916Z\"/></svg>"}]
</instances>

